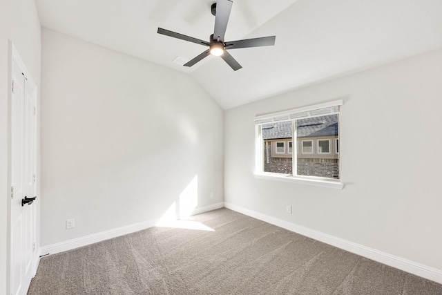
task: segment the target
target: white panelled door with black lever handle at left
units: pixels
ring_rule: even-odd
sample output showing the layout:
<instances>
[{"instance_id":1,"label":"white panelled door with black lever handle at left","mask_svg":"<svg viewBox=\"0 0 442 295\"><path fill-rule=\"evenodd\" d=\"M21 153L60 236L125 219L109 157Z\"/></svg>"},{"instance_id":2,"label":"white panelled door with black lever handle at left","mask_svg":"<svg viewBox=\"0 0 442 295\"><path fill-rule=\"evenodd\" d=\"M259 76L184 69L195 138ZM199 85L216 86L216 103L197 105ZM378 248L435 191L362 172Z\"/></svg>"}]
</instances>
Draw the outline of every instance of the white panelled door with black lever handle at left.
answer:
<instances>
[{"instance_id":1,"label":"white panelled door with black lever handle at left","mask_svg":"<svg viewBox=\"0 0 442 295\"><path fill-rule=\"evenodd\" d=\"M26 294L35 251L36 88L12 62L11 294ZM24 203L23 203L24 202Z\"/></svg>"}]
</instances>

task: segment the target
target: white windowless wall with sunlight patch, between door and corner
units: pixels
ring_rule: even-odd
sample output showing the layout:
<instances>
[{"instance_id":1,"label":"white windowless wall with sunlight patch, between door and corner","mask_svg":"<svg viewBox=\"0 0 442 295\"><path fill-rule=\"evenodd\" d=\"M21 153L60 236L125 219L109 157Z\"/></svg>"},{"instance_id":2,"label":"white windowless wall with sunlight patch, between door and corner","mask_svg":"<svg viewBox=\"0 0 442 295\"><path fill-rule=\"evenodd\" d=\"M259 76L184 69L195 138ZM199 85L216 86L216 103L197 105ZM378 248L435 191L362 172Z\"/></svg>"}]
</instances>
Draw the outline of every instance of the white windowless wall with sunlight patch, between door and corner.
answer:
<instances>
[{"instance_id":1,"label":"white windowless wall with sunlight patch, between door and corner","mask_svg":"<svg viewBox=\"0 0 442 295\"><path fill-rule=\"evenodd\" d=\"M48 29L42 64L43 246L222 202L223 111L189 75Z\"/></svg>"}]
</instances>

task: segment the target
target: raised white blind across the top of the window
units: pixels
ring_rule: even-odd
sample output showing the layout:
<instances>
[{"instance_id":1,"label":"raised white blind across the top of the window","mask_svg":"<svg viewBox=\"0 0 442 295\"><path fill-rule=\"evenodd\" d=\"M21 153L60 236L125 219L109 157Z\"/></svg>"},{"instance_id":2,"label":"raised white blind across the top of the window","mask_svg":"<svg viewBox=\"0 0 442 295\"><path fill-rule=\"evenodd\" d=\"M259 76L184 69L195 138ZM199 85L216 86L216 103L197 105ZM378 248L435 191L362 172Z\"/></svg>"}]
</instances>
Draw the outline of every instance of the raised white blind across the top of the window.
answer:
<instances>
[{"instance_id":1,"label":"raised white blind across the top of the window","mask_svg":"<svg viewBox=\"0 0 442 295\"><path fill-rule=\"evenodd\" d=\"M334 102L325 102L324 104L315 104L314 106L304 106L302 108L294 108L278 113L267 115L258 115L255 117L256 124L269 122L282 122L293 119L304 119L309 117L319 117L323 115L332 115L339 113L339 106L343 105L343 100L338 99Z\"/></svg>"}]
</instances>

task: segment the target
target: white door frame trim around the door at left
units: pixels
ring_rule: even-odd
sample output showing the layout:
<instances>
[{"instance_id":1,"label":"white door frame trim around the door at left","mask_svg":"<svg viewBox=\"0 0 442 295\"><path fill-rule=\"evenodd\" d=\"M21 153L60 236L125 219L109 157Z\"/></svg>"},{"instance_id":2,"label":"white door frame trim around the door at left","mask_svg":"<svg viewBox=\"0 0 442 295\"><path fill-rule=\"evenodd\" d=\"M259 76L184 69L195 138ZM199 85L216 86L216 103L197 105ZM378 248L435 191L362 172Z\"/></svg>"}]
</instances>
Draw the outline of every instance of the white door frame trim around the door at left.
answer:
<instances>
[{"instance_id":1,"label":"white door frame trim around the door at left","mask_svg":"<svg viewBox=\"0 0 442 295\"><path fill-rule=\"evenodd\" d=\"M39 87L35 83L35 80L32 79L32 76L30 75L28 69L26 68L25 64L23 63L23 60L21 59L19 52L17 48L14 46L12 41L8 40L8 118L7 118L7 129L8 129L8 163L7 163L7 169L8 169L8 179L7 179L7 187L8 187L8 193L7 193L7 208L6 208L6 218L7 218L7 236L6 236L6 242L7 242L7 248L6 248L6 290L7 294L10 294L10 288L11 288L11 282L12 282L12 265L11 265L11 197L12 197L12 186L11 186L11 178L12 178L12 63L17 64L19 69L21 70L21 73L25 75L25 77L28 79L28 82L32 83L35 86L36 96L35 96L35 108L36 108L36 118L35 118L35 190L37 192L37 196L40 196L40 154L39 154L39 145L40 145L40 116L39 116ZM39 199L39 198L37 198ZM37 273L37 268L40 262L40 228L39 228L39 220L40 220L40 201L36 200L35 202L36 208L35 208L35 215L34 218L34 240L35 240L35 251L33 252L32 257L32 277L35 276Z\"/></svg>"}]
</instances>

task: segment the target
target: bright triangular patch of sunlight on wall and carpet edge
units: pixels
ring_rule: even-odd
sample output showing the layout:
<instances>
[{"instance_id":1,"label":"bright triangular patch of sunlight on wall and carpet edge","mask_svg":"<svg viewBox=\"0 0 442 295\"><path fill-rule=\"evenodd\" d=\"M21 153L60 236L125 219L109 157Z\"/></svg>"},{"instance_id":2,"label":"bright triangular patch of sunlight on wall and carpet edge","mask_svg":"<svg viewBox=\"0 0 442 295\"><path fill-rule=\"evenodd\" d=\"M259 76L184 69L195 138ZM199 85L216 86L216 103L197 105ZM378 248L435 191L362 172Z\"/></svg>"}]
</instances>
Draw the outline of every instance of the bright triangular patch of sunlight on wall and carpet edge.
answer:
<instances>
[{"instance_id":1,"label":"bright triangular patch of sunlight on wall and carpet edge","mask_svg":"<svg viewBox=\"0 0 442 295\"><path fill-rule=\"evenodd\" d=\"M193 210L198 206L198 175L195 175L186 188L180 193L180 198L173 202L169 209L157 222L157 227L173 227L176 229L195 229L214 231L201 222L191 218Z\"/></svg>"}]
</instances>

